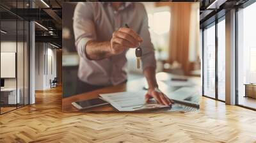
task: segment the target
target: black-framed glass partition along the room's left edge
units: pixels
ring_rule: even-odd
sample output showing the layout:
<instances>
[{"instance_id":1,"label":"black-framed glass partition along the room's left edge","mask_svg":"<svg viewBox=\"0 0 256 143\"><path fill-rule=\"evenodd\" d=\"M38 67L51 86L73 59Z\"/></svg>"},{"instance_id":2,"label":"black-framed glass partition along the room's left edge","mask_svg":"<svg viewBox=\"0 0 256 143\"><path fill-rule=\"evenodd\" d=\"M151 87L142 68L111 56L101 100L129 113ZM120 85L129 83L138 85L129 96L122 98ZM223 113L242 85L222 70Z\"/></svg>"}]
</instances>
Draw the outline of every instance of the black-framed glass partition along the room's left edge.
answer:
<instances>
[{"instance_id":1,"label":"black-framed glass partition along the room's left edge","mask_svg":"<svg viewBox=\"0 0 256 143\"><path fill-rule=\"evenodd\" d=\"M28 1L12 1L11 8L26 6ZM12 16L4 17L2 13ZM0 114L3 114L29 103L29 22L8 8L0 8L0 30Z\"/></svg>"}]
</instances>

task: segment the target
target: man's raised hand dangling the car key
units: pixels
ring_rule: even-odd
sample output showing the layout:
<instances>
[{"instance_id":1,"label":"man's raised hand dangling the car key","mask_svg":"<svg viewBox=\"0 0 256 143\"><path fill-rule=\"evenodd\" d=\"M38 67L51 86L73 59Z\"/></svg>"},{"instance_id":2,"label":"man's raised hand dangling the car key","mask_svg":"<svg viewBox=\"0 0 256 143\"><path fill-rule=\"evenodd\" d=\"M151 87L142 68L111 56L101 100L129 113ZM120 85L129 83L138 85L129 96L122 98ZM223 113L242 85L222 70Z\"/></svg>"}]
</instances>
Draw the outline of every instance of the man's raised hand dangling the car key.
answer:
<instances>
[{"instance_id":1,"label":"man's raised hand dangling the car key","mask_svg":"<svg viewBox=\"0 0 256 143\"><path fill-rule=\"evenodd\" d=\"M121 54L125 49L139 47L142 41L132 29L122 27L113 33L110 41L111 53Z\"/></svg>"}]
</instances>

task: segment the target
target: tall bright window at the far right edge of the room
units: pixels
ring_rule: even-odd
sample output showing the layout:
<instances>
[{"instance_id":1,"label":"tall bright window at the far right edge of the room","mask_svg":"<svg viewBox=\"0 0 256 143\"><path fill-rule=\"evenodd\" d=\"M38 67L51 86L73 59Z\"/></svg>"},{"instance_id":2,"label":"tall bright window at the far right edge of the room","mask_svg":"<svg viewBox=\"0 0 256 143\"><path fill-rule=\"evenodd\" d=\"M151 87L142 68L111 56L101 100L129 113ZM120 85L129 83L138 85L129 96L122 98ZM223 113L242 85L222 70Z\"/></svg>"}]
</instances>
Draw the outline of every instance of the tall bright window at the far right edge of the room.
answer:
<instances>
[{"instance_id":1,"label":"tall bright window at the far right edge of the room","mask_svg":"<svg viewBox=\"0 0 256 143\"><path fill-rule=\"evenodd\" d=\"M237 11L237 89L239 105L256 109L256 3Z\"/></svg>"}]
</instances>

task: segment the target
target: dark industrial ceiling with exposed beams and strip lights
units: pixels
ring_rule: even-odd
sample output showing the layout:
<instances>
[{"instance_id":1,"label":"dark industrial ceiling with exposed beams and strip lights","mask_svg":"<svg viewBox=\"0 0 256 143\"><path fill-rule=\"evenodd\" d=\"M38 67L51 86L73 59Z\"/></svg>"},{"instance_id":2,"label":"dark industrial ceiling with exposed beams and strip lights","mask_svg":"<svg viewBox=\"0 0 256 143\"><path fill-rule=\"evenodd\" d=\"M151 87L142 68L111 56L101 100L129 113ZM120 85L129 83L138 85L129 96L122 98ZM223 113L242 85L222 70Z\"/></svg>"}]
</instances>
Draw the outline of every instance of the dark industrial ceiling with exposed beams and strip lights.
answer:
<instances>
[{"instance_id":1,"label":"dark industrial ceiling with exposed beams and strip lights","mask_svg":"<svg viewBox=\"0 0 256 143\"><path fill-rule=\"evenodd\" d=\"M61 45L62 35L62 4L68 1L75 0L31 0L29 1L11 1L1 0L0 1L0 14L1 20L8 22L2 22L6 24L4 27L8 27L10 31L15 29L16 18L23 20L35 20L36 24L36 40L37 41L48 41L55 42ZM181 0L173 0L175 2ZM228 8L243 4L248 0L184 0L189 2L200 2L200 26L204 26L211 22L212 17L216 13L221 13ZM35 8L31 8L33 7ZM221 14L220 14L221 16ZM214 20L214 19L212 19ZM41 26L40 26L40 25ZM43 26L43 27L42 27ZM3 26L2 26L3 27ZM47 30L45 30L45 28ZM21 29L21 28L20 28ZM50 32L51 31L51 32ZM14 32L14 31L13 31ZM19 33L19 30L18 30ZM51 41L52 40L52 41Z\"/></svg>"}]
</instances>

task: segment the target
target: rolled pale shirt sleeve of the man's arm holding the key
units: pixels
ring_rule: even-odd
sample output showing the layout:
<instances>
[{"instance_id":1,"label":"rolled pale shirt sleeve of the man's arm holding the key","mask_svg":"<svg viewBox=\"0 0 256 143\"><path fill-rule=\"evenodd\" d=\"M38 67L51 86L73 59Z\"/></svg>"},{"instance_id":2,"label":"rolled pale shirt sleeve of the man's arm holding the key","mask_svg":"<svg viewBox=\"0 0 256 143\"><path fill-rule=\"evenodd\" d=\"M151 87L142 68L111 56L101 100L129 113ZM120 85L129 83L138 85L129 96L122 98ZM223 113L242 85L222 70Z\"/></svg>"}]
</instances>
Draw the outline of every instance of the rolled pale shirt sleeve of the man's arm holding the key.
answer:
<instances>
[{"instance_id":1,"label":"rolled pale shirt sleeve of the man's arm holding the key","mask_svg":"<svg viewBox=\"0 0 256 143\"><path fill-rule=\"evenodd\" d=\"M97 39L91 3L77 3L73 17L73 29L77 53L83 59L88 60L85 54L86 43Z\"/></svg>"}]
</instances>

